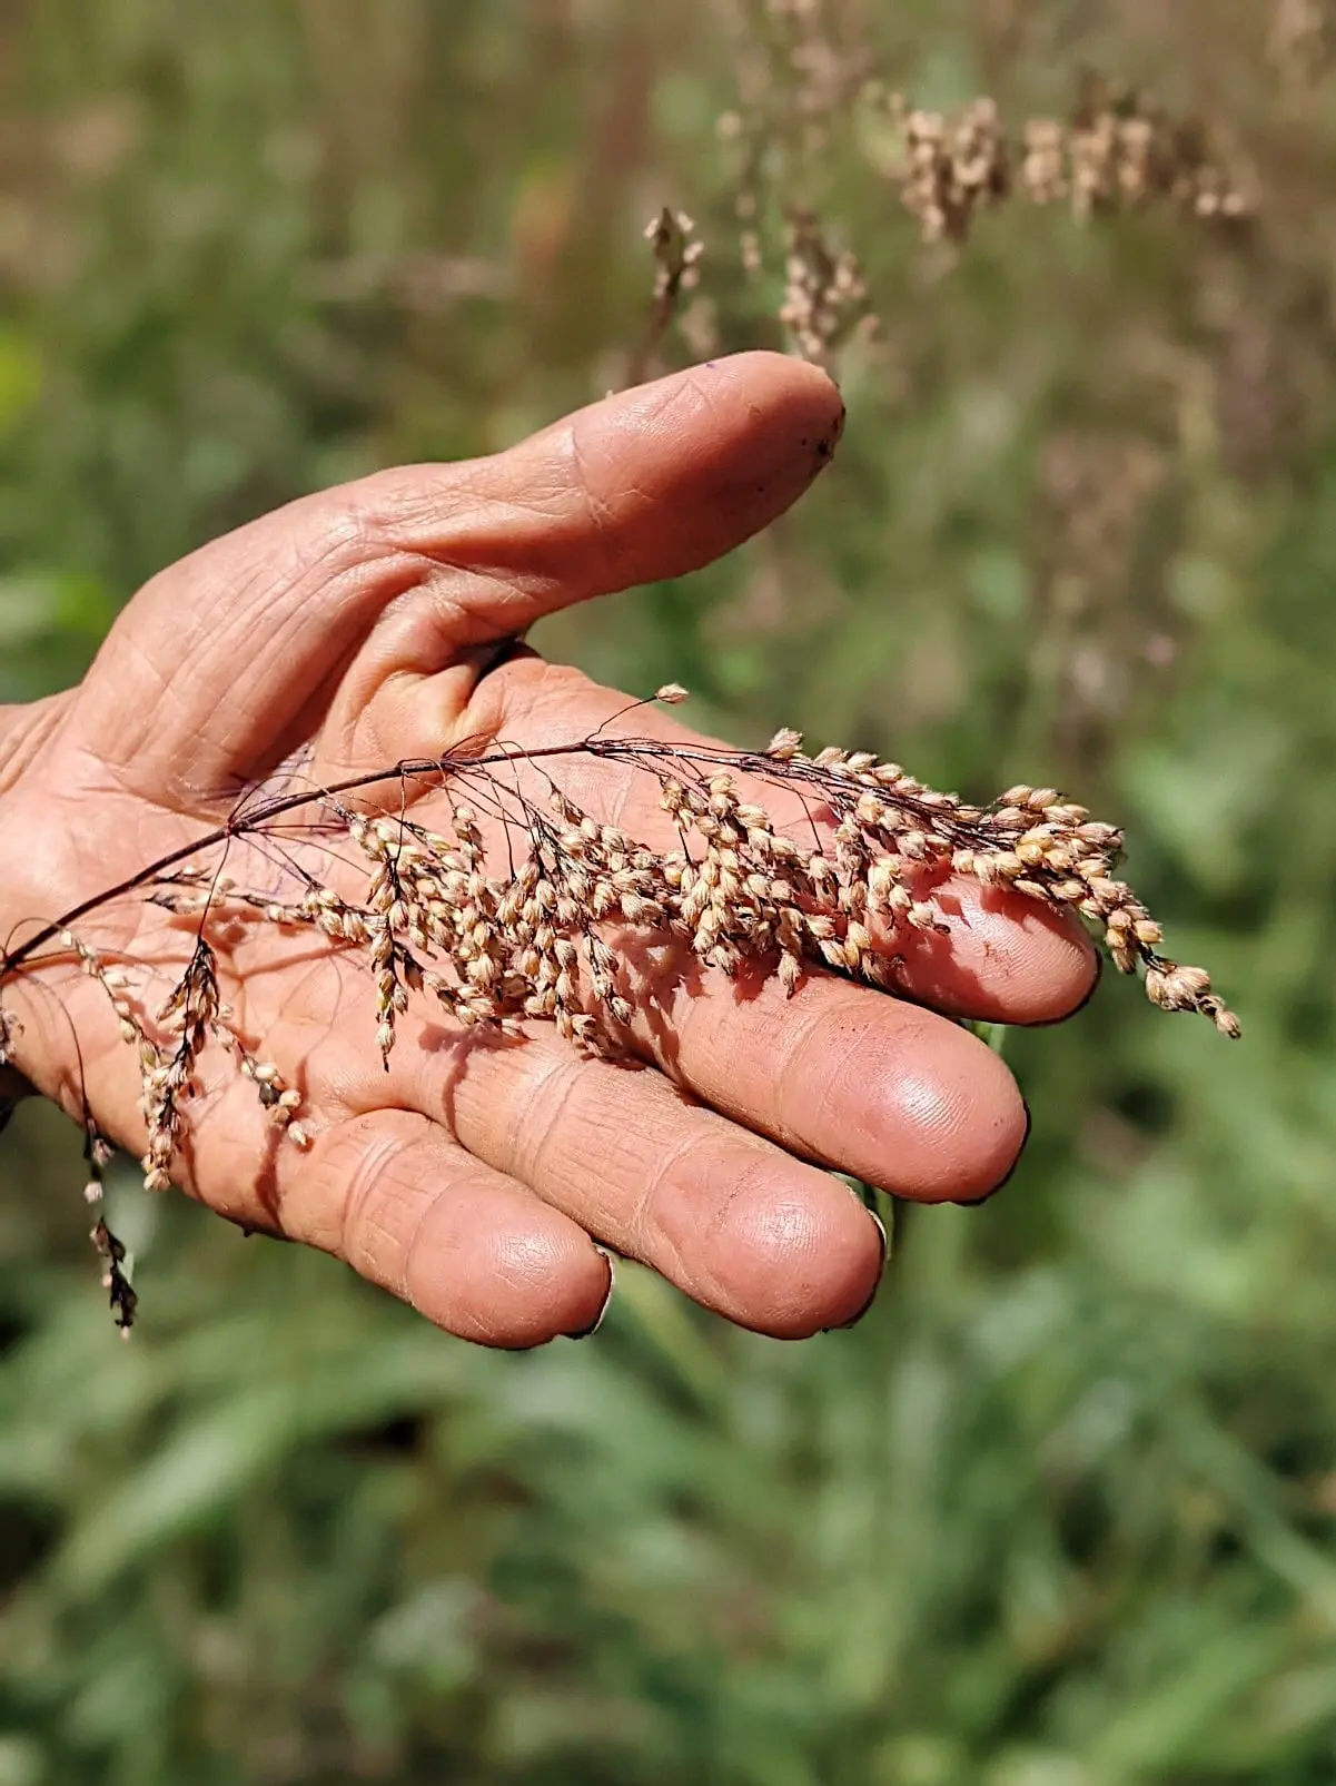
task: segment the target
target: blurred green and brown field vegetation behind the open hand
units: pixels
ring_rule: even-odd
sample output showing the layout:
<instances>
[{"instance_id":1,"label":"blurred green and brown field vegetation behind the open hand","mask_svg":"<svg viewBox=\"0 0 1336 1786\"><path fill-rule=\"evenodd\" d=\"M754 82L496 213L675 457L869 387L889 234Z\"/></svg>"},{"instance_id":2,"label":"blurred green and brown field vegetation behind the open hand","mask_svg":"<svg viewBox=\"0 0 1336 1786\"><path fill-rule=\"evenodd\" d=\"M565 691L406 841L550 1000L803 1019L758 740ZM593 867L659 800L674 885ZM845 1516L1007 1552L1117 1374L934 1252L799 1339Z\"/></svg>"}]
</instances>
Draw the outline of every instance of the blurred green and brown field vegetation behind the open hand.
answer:
<instances>
[{"instance_id":1,"label":"blurred green and brown field vegetation behind the open hand","mask_svg":"<svg viewBox=\"0 0 1336 1786\"><path fill-rule=\"evenodd\" d=\"M789 345L850 407L816 491L539 643L1065 784L1247 1039L1115 984L1009 1036L1007 1195L898 1209L802 1347L625 1268L597 1341L495 1357L125 1179L121 1348L21 1109L0 1786L1336 1777L1334 45L1322 0L4 0L0 700L288 497Z\"/></svg>"}]
</instances>

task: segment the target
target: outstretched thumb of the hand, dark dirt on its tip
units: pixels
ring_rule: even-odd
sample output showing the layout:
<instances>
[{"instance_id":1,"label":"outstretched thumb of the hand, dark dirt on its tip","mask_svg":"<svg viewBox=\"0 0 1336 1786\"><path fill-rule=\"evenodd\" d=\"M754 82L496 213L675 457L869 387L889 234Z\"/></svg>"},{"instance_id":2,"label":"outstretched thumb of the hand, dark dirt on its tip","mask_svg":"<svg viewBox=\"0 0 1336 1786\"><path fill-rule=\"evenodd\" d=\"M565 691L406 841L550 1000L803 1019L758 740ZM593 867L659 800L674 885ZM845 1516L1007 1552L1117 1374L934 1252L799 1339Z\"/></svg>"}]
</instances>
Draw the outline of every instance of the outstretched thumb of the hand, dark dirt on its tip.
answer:
<instances>
[{"instance_id":1,"label":"outstretched thumb of the hand, dark dirt on its tip","mask_svg":"<svg viewBox=\"0 0 1336 1786\"><path fill-rule=\"evenodd\" d=\"M80 743L148 798L216 795L311 736L336 691L347 711L389 677L732 550L802 495L841 423L825 373L739 354L491 459L302 498L145 586L80 691Z\"/></svg>"}]
</instances>

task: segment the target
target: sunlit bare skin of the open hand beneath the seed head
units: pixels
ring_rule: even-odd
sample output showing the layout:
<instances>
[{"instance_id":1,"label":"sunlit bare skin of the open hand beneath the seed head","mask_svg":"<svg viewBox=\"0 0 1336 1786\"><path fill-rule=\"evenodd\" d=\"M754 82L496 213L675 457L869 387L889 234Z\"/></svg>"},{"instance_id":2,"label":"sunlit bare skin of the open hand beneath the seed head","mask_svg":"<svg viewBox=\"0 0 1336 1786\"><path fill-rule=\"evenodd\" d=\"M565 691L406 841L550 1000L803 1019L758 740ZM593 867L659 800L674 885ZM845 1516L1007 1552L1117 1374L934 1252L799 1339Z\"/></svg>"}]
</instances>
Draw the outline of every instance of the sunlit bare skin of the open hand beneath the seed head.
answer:
<instances>
[{"instance_id":1,"label":"sunlit bare skin of the open hand beneath the seed head","mask_svg":"<svg viewBox=\"0 0 1336 1786\"><path fill-rule=\"evenodd\" d=\"M823 373L738 355L491 459L305 498L163 572L80 688L0 709L0 934L218 825L227 789L298 752L329 782L479 734L538 747L591 732L625 695L523 650L497 664L497 643L732 550L807 489L841 423ZM636 730L689 738L684 713L641 711ZM568 786L597 816L661 834L648 777L582 763ZM443 798L423 795L429 823ZM923 1202L986 1197L1016 1163L1025 1107L947 1014L1052 1022L1095 977L1059 913L972 882L939 902L950 936L902 966L913 1002L822 973L791 1002L775 982L739 997L706 975L638 1031L643 1070L584 1059L541 1025L514 1047L466 1047L423 1013L384 1072L364 970L264 932L232 959L229 997L302 1086L313 1145L275 1147L254 1086L211 1050L175 1177L489 1345L589 1329L609 1293L595 1241L761 1332L845 1323L875 1291L882 1238L823 1168ZM179 923L139 904L86 934L113 954L180 956ZM59 970L2 991L29 1081L79 1109L77 1031L89 1106L138 1152L138 1064L102 993Z\"/></svg>"}]
</instances>

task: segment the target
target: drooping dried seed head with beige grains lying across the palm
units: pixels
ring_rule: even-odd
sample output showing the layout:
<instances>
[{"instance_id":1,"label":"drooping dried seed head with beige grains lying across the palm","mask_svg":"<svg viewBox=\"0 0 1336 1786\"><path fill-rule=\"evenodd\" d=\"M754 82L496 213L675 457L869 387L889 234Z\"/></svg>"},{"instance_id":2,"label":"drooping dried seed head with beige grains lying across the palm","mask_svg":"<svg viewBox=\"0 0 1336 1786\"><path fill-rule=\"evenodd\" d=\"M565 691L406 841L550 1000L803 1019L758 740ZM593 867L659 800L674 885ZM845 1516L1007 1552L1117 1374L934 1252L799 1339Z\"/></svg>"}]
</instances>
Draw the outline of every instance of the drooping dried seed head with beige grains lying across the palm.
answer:
<instances>
[{"instance_id":1,"label":"drooping dried seed head with beige grains lying across the palm","mask_svg":"<svg viewBox=\"0 0 1336 1786\"><path fill-rule=\"evenodd\" d=\"M686 689L670 682L655 698L673 705ZM652 848L572 800L550 779L572 757L616 763L657 782L677 847ZM398 816L354 804L380 782L422 791L425 779L450 791L447 830L418 823L407 804ZM791 811L795 797L800 811L822 814L820 830L777 822L772 805ZM241 838L263 839L280 827L291 839L293 814L304 809L313 836L338 834L339 847L321 841L321 848L341 861L341 873L348 845L361 857L359 891L307 875L291 897L275 898L211 866L211 855ZM259 798L191 852L148 864L0 957L0 988L57 959L73 961L100 986L139 1061L141 1166L146 1188L157 1191L171 1182L209 1048L230 1056L288 1143L307 1147L320 1114L307 1114L279 1064L239 1036L221 997L225 945L216 938L238 922L318 931L361 959L372 982L368 1045L386 1064L402 1018L429 1002L463 1031L520 1041L530 1023L550 1022L582 1052L618 1054L629 1048L636 1020L638 939L672 943L679 972L688 963L727 977L747 970L779 979L789 997L813 970L893 991L906 941L945 931L932 888L954 873L1073 911L1116 968L1143 973L1154 1006L1197 1011L1238 1036L1238 1018L1206 970L1161 952L1159 923L1120 877L1120 859L1122 832L1054 788L1015 786L981 807L872 752L807 754L789 727L763 752L600 730L573 745L497 747L482 757L395 764L323 793ZM154 975L109 963L73 929L127 891L193 920L184 968L152 1014ZM0 1061L13 1056L16 1036L13 1014L0 1007ZM109 1154L89 1120L89 1200L100 1197ZM95 1239L116 1318L129 1325L134 1293L123 1252L104 1223Z\"/></svg>"}]
</instances>

